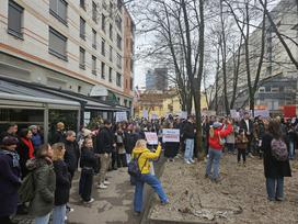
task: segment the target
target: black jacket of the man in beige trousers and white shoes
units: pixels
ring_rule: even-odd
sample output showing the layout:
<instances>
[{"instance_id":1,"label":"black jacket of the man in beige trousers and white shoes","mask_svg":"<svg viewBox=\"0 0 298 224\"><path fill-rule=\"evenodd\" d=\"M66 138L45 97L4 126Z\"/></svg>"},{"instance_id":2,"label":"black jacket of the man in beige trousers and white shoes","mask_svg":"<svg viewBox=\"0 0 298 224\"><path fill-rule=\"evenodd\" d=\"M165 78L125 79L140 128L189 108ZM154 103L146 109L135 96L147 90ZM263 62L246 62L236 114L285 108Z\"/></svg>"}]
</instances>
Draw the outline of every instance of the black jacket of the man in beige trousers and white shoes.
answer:
<instances>
[{"instance_id":1,"label":"black jacket of the man in beige trousers and white shoes","mask_svg":"<svg viewBox=\"0 0 298 224\"><path fill-rule=\"evenodd\" d=\"M96 139L96 154L111 154L114 149L114 134L111 128L103 127Z\"/></svg>"}]
</instances>

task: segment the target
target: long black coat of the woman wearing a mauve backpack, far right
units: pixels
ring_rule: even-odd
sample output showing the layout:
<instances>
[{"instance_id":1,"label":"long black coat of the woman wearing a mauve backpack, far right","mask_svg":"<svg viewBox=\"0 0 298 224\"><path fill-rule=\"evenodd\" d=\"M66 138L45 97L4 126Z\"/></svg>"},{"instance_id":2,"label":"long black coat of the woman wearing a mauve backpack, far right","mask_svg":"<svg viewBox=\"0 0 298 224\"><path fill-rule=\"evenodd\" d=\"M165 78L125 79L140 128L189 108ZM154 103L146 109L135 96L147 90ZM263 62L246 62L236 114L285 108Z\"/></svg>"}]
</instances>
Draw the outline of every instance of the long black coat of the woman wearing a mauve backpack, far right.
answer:
<instances>
[{"instance_id":1,"label":"long black coat of the woman wearing a mauve backpack, far right","mask_svg":"<svg viewBox=\"0 0 298 224\"><path fill-rule=\"evenodd\" d=\"M261 149L264 152L264 172L266 178L291 177L289 161L277 161L272 156L271 142L273 136L265 134Z\"/></svg>"}]
</instances>

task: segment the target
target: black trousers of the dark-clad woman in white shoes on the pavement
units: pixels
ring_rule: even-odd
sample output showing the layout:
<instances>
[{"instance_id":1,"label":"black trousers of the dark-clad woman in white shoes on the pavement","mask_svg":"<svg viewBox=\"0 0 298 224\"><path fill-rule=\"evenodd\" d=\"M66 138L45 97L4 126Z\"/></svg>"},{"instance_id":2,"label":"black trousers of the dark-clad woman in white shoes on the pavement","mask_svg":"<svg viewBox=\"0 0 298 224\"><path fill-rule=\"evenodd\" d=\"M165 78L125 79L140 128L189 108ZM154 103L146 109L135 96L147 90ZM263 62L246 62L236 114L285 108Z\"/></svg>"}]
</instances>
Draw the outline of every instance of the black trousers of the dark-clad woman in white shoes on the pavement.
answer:
<instances>
[{"instance_id":1,"label":"black trousers of the dark-clad woman in white shoes on the pavement","mask_svg":"<svg viewBox=\"0 0 298 224\"><path fill-rule=\"evenodd\" d=\"M83 201L91 200L92 186L93 186L94 171L92 168L82 168L80 183L79 183L79 194Z\"/></svg>"}]
</instances>

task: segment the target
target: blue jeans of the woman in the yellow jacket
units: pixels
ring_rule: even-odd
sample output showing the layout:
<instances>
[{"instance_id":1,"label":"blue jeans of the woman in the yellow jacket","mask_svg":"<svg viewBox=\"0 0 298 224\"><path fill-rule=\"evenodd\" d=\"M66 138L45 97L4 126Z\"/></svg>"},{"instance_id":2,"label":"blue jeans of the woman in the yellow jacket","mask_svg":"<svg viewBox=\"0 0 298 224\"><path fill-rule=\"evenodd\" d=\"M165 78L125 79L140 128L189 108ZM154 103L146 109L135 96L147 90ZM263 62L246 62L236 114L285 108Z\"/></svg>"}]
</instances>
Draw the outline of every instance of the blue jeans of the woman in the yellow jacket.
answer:
<instances>
[{"instance_id":1,"label":"blue jeans of the woman in the yellow jacket","mask_svg":"<svg viewBox=\"0 0 298 224\"><path fill-rule=\"evenodd\" d=\"M144 183L148 183L153 188L156 193L159 195L161 202L167 202L168 197L165 195L160 181L156 176L150 173L141 175L140 178L136 179L136 189L135 189L135 200L134 200L134 208L136 212L141 212L142 210L142 189Z\"/></svg>"}]
</instances>

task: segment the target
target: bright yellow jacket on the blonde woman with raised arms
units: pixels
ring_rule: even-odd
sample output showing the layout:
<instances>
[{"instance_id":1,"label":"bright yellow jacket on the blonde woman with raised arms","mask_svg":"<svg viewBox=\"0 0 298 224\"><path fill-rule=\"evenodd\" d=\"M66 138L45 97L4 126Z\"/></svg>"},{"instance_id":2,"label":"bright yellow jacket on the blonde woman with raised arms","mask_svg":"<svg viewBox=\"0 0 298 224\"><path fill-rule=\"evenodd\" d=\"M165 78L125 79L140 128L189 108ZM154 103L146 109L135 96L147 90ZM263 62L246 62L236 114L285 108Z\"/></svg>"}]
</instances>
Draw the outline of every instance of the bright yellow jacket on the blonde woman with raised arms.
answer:
<instances>
[{"instance_id":1,"label":"bright yellow jacket on the blonde woman with raised arms","mask_svg":"<svg viewBox=\"0 0 298 224\"><path fill-rule=\"evenodd\" d=\"M140 155L139 159L138 159L138 164L139 164L139 169L141 170L142 175L147 175L150 172L150 163L149 159L156 159L159 157L161 153L161 146L159 145L157 150L150 152L148 148L134 148L133 150L133 158L137 158ZM146 164L145 164L146 163Z\"/></svg>"}]
</instances>

